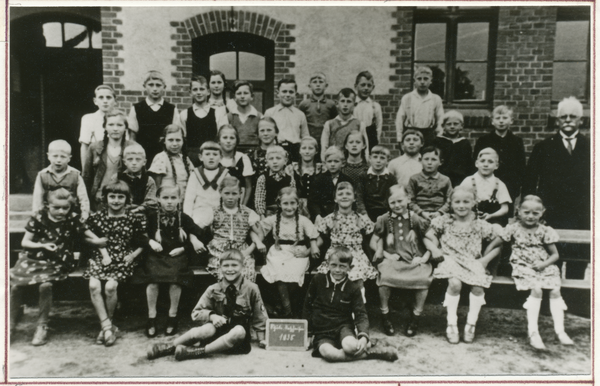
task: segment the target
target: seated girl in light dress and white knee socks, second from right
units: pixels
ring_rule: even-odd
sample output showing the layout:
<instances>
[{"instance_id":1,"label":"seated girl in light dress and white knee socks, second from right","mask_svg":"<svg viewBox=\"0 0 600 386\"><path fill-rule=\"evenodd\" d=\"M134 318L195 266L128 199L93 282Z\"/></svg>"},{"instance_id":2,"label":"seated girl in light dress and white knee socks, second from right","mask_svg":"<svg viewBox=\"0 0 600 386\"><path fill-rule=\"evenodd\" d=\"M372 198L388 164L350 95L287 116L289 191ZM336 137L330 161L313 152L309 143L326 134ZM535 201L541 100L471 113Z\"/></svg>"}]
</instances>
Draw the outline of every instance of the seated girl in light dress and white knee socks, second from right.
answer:
<instances>
[{"instance_id":1,"label":"seated girl in light dress and white knee socks, second from right","mask_svg":"<svg viewBox=\"0 0 600 386\"><path fill-rule=\"evenodd\" d=\"M433 219L426 235L434 244L428 244L432 257L444 258L433 272L433 277L448 279L444 306L448 312L446 337L452 344L460 340L457 310L463 283L471 286L463 336L465 343L471 343L475 339L479 310L485 304L483 289L489 288L492 283L486 267L500 253L497 232L490 223L476 217L473 212L475 203L472 191L457 187L450 196L452 213ZM482 255L484 240L490 243ZM441 246L441 250L437 245Z\"/></svg>"}]
</instances>

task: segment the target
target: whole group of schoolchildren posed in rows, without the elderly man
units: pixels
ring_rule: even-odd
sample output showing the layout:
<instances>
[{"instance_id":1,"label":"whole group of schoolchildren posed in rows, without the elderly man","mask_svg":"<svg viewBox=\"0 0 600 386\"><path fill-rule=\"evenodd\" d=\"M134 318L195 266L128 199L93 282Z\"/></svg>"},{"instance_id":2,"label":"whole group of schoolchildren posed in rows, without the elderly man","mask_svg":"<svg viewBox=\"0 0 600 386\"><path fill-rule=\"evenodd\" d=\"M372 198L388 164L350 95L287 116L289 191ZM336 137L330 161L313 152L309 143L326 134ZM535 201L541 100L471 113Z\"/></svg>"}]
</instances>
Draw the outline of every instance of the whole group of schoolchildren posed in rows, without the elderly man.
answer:
<instances>
[{"instance_id":1,"label":"whole group of schoolchildren posed in rows, without the elderly man","mask_svg":"<svg viewBox=\"0 0 600 386\"><path fill-rule=\"evenodd\" d=\"M265 347L267 312L254 282L255 258L266 255L260 273L278 295L270 316L306 318L313 355L393 361L394 349L369 341L364 282L376 280L387 335L395 333L392 290L414 290L404 330L412 337L432 279L447 279L450 343L460 340L457 308L461 287L470 286L462 334L470 343L492 280L487 266L506 242L517 289L531 290L524 305L531 345L544 348L537 327L542 289L551 290L558 339L573 344L554 264L557 233L540 222L544 206L537 196L512 207L525 167L523 142L509 129L512 111L494 109L494 129L477 141L473 158L460 135L463 116L444 113L429 91L431 80L429 68L418 68L415 90L402 98L396 128L403 154L395 159L379 145L381 106L366 71L337 102L325 98L326 76L314 74L312 95L299 108L295 81L283 79L280 103L264 116L251 105L252 84L236 82L234 99L227 99L219 71L191 79L193 105L181 112L164 100L158 72L148 74L147 97L128 116L115 109L113 90L99 86L99 110L82 119L82 173L68 165L71 148L58 140L35 182L35 214L11 269L11 328L23 313L23 288L39 284L32 343L47 342L52 282L73 269L74 240L83 235L84 277L100 321L97 344L117 339L112 318L117 287L126 280L146 285L148 337L159 332L159 284L169 284L165 333L177 334L182 288L192 285L190 259L206 255L218 282L192 311L198 327L153 345L148 358L248 353L252 330ZM238 151L242 145L247 154ZM508 224L512 212L516 221ZM298 310L292 299L309 267L318 273Z\"/></svg>"}]
</instances>

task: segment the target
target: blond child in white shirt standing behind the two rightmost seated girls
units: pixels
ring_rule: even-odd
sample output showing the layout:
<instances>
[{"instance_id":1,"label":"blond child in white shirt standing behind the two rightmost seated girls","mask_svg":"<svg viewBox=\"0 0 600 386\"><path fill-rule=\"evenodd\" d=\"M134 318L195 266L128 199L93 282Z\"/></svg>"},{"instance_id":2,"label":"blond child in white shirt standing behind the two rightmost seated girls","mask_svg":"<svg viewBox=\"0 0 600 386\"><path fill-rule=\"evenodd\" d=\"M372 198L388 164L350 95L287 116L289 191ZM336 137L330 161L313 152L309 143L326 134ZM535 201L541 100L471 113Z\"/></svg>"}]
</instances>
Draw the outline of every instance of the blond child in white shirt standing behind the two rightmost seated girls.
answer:
<instances>
[{"instance_id":1,"label":"blond child in white shirt standing behind the two rightmost seated girls","mask_svg":"<svg viewBox=\"0 0 600 386\"><path fill-rule=\"evenodd\" d=\"M475 194L477 215L480 219L504 226L508 222L506 215L512 200L504 182L494 176L498 164L496 150L491 147L481 150L475 162L477 173L465 178L460 186Z\"/></svg>"}]
</instances>

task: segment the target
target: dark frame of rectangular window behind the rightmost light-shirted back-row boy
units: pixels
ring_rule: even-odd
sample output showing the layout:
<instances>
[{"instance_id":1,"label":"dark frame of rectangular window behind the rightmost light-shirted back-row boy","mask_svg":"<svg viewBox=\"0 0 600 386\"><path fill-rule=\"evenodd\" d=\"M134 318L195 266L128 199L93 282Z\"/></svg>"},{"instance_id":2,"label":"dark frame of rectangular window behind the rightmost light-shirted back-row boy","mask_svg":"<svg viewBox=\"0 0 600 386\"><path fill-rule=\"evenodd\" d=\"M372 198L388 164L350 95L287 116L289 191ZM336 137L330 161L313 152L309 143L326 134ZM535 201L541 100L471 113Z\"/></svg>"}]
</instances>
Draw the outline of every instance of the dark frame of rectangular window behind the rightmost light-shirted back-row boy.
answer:
<instances>
[{"instance_id":1,"label":"dark frame of rectangular window behind the rightmost light-shirted back-row boy","mask_svg":"<svg viewBox=\"0 0 600 386\"><path fill-rule=\"evenodd\" d=\"M489 23L488 36L488 54L486 61L465 61L457 60L458 47L458 25L459 23ZM489 109L493 103L494 96L494 72L496 65L496 42L498 37L498 7L489 7L485 9L469 9L469 7L428 7L427 9L416 8L413 16L413 49L411 75L414 75L416 65L420 61L415 61L416 52L416 27L417 24L446 24L446 53L445 53L445 92L442 97L444 107L460 109ZM422 63L431 61L422 61ZM486 62L487 82L485 100L454 100L455 67L457 62ZM412 79L412 77L411 77Z\"/></svg>"}]
</instances>

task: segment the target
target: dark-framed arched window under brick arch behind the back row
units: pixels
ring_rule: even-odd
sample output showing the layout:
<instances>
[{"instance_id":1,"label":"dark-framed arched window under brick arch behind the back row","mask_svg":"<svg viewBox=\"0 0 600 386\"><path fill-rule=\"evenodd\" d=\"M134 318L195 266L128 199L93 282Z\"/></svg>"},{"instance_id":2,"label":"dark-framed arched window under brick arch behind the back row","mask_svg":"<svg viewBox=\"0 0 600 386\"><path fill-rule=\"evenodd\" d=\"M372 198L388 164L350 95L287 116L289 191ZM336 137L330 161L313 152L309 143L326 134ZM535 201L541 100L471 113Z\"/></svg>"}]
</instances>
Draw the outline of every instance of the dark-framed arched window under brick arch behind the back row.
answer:
<instances>
[{"instance_id":1,"label":"dark-framed arched window under brick arch behind the back row","mask_svg":"<svg viewBox=\"0 0 600 386\"><path fill-rule=\"evenodd\" d=\"M254 87L253 105L264 112L273 106L275 42L244 32L219 32L197 37L192 42L192 72L209 77L219 70L232 90L237 80ZM233 95L230 95L233 97Z\"/></svg>"}]
</instances>

